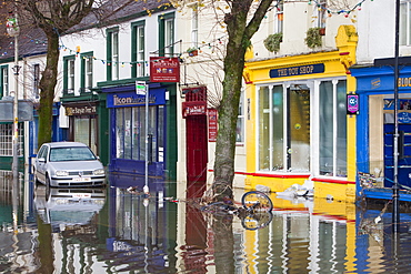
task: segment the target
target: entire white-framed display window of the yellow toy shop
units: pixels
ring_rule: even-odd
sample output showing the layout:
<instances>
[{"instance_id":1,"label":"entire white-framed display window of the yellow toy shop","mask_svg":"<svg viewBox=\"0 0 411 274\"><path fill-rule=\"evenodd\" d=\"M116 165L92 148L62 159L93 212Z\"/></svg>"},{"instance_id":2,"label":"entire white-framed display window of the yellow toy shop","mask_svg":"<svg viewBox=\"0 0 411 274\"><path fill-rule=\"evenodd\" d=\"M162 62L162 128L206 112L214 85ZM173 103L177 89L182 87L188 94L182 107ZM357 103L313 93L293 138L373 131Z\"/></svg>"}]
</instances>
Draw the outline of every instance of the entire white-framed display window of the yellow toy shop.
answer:
<instances>
[{"instance_id":1,"label":"entire white-framed display window of the yellow toy shop","mask_svg":"<svg viewBox=\"0 0 411 274\"><path fill-rule=\"evenodd\" d=\"M315 174L347 176L345 100L345 80L260 85L258 170L309 172L313 161Z\"/></svg>"}]
</instances>

